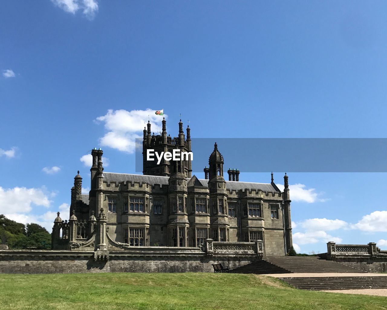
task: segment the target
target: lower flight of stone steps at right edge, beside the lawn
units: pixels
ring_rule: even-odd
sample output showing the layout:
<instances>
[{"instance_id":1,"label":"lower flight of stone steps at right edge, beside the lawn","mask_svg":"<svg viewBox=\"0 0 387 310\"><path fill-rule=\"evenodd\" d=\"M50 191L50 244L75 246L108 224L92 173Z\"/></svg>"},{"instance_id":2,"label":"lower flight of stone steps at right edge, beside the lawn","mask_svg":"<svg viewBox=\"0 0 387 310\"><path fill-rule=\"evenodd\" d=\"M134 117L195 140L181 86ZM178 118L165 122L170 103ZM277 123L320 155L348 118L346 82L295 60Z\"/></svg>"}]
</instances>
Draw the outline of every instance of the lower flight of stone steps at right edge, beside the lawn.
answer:
<instances>
[{"instance_id":1,"label":"lower flight of stone steps at right edge, beside the lawn","mask_svg":"<svg viewBox=\"0 0 387 310\"><path fill-rule=\"evenodd\" d=\"M279 279L295 288L312 291L387 288L387 276L286 277Z\"/></svg>"}]
</instances>

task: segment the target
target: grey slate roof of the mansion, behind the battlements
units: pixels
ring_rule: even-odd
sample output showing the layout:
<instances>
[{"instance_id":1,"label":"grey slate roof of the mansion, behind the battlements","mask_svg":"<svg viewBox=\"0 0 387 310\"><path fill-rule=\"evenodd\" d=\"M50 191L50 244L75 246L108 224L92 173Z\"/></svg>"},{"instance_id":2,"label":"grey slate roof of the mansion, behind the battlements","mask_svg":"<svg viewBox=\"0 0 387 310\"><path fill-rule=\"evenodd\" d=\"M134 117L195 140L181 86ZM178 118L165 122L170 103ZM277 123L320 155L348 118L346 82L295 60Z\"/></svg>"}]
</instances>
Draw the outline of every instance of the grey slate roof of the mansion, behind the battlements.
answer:
<instances>
[{"instance_id":1,"label":"grey slate roof of the mansion, behind the battlements","mask_svg":"<svg viewBox=\"0 0 387 310\"><path fill-rule=\"evenodd\" d=\"M143 174L126 174L126 173L114 173L114 172L103 172L104 182L144 182L148 184L160 184L160 185L168 185L169 177L162 176L146 176ZM187 179L188 181L189 179ZM200 182L199 185L197 181ZM208 180L205 179L196 179L193 180L196 186L208 186ZM270 183L254 183L254 182L236 182L236 181L226 181L226 188L228 189L245 189L245 188L253 188L253 189L261 189L262 191L277 191L276 188L272 186ZM83 195L82 195L83 196ZM87 199L89 195L87 196Z\"/></svg>"}]
</instances>

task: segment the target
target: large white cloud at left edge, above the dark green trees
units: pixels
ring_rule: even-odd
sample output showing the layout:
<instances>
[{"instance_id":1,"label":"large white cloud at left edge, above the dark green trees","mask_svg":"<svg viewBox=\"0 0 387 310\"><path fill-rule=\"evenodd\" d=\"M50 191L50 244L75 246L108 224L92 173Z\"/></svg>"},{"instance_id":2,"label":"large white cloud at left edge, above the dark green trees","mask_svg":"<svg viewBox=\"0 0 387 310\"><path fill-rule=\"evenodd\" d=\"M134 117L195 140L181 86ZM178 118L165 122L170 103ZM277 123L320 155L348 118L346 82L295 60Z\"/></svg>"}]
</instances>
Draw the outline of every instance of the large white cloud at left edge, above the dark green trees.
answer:
<instances>
[{"instance_id":1,"label":"large white cloud at left edge, above the dark green trees","mask_svg":"<svg viewBox=\"0 0 387 310\"><path fill-rule=\"evenodd\" d=\"M51 204L49 198L52 194L48 193L45 187L4 189L0 186L0 214L6 212L29 212L32 209L32 205L48 208Z\"/></svg>"}]
</instances>

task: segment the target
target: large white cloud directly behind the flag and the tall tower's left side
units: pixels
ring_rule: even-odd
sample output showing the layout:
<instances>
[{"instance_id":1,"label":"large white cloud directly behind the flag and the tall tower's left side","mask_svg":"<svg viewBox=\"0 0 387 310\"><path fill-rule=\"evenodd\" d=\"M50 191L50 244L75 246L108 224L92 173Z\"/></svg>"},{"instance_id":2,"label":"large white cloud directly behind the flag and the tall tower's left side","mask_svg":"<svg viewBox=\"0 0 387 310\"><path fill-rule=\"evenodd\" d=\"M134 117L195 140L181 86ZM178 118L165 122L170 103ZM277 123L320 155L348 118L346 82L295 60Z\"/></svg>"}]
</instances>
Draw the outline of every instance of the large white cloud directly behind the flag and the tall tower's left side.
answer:
<instances>
[{"instance_id":1,"label":"large white cloud directly behind the flag and the tall tower's left side","mask_svg":"<svg viewBox=\"0 0 387 310\"><path fill-rule=\"evenodd\" d=\"M167 115L164 114L167 118ZM149 121L152 124L152 133L161 131L163 120L159 115L155 114L155 110L108 110L106 115L97 117L96 122L103 122L105 128L108 130L102 138L100 143L102 146L115 148L116 150L134 153L135 138L142 138L144 127Z\"/></svg>"}]
</instances>

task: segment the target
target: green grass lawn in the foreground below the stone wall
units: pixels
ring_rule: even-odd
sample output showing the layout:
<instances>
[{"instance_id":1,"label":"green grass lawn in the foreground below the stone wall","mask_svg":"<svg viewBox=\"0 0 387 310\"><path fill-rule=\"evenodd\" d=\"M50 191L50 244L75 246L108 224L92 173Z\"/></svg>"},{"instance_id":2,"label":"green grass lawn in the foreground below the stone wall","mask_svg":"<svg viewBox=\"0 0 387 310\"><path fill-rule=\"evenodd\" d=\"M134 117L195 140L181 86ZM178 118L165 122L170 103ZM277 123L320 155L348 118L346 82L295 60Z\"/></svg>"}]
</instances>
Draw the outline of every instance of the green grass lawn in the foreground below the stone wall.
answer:
<instances>
[{"instance_id":1,"label":"green grass lawn in the foreground below the stone wall","mask_svg":"<svg viewBox=\"0 0 387 310\"><path fill-rule=\"evenodd\" d=\"M0 309L387 309L387 298L302 291L244 274L0 275Z\"/></svg>"}]
</instances>

